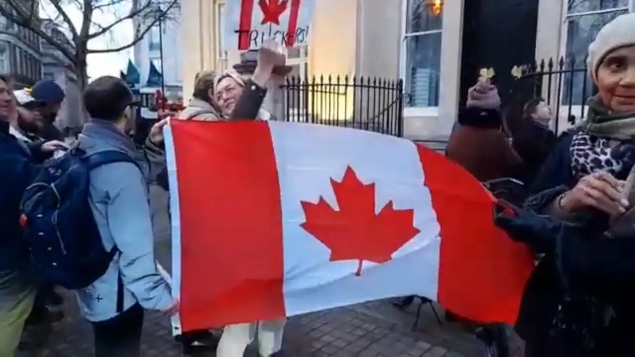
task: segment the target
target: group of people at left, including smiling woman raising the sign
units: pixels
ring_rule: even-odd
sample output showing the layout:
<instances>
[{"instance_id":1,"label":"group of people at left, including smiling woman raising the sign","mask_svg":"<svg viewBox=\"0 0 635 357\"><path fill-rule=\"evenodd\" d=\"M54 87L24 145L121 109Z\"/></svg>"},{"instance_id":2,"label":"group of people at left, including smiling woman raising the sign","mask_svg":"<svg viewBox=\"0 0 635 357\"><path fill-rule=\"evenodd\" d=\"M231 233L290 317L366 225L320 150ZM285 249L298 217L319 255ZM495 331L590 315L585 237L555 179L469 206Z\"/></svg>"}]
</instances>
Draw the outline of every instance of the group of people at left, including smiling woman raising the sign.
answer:
<instances>
[{"instance_id":1,"label":"group of people at left, including smiling woman raising the sign","mask_svg":"<svg viewBox=\"0 0 635 357\"><path fill-rule=\"evenodd\" d=\"M189 107L181 115L163 115L209 121L269 119L271 114L261 109L266 85L274 66L283 64L284 55L268 43L259 51L258 65L250 78L236 72L201 72ZM96 356L140 356L144 310L168 315L178 311L170 285L157 271L148 191L148 182L154 179L168 189L165 170L153 170L165 166L163 126L168 119L152 126L143 147L135 145L131 138L131 105L135 102L130 88L119 78L100 77L84 91L90 118L77 140L67 143L54 125L62 100L64 91L52 81L13 91L10 77L0 76L0 165L4 176L0 189L0 356L15 356L25 325L63 318L58 311L50 311L51 306L62 304L62 297L54 286L34 275L41 270L31 267L35 247L29 246L24 236L30 224L27 218L32 217L21 212L25 190L41 179L43 168L62 170L51 158L61 162L69 155L81 155L88 162L113 151L125 159L90 169L86 199L100 243L114 255L98 278L76 293L81 313L93 326ZM69 180L75 175L70 171L65 173ZM58 205L62 199L58 195ZM53 216L61 220L57 213L63 212ZM39 234L44 236L44 232ZM58 229L57 234L64 243L67 237L62 235L67 232ZM61 248L64 250L63 244ZM53 261L52 265L55 268L58 264ZM281 348L283 327L284 320L225 327L218 355L242 356L256 330L261 353L275 354ZM201 333L182 336L187 344L200 338Z\"/></svg>"}]
</instances>

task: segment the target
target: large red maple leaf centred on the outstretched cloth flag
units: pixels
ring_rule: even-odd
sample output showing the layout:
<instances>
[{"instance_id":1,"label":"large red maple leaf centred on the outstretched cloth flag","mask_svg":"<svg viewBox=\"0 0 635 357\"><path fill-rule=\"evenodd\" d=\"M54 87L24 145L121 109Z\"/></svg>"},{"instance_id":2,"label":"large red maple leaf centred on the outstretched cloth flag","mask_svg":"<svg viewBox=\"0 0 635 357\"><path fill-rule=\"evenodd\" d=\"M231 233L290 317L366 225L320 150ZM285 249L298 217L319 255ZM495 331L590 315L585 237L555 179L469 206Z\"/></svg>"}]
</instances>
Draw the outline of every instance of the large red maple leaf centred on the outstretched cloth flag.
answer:
<instances>
[{"instance_id":1,"label":"large red maple leaf centred on the outstretched cloth flag","mask_svg":"<svg viewBox=\"0 0 635 357\"><path fill-rule=\"evenodd\" d=\"M322 196L318 203L302 201L306 218L301 227L330 248L331 262L358 260L357 276L364 260L387 262L420 232L413 227L413 210L395 210L392 201L375 213L375 184L361 182L351 166L342 182L331 179L331 186L339 210Z\"/></svg>"}]
</instances>

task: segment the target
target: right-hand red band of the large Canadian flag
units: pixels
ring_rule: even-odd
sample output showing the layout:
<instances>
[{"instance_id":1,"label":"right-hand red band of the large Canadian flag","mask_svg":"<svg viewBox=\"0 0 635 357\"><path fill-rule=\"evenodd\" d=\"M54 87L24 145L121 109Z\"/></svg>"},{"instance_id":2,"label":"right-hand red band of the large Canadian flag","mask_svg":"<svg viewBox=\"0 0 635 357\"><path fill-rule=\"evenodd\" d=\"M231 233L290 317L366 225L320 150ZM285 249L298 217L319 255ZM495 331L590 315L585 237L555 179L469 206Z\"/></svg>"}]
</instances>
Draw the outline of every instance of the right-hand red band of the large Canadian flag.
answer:
<instances>
[{"instance_id":1,"label":"right-hand red band of the large Canadian flag","mask_svg":"<svg viewBox=\"0 0 635 357\"><path fill-rule=\"evenodd\" d=\"M515 323L533 255L493 225L493 198L472 175L437 152L418 151L441 227L439 303L470 320Z\"/></svg>"}]
</instances>

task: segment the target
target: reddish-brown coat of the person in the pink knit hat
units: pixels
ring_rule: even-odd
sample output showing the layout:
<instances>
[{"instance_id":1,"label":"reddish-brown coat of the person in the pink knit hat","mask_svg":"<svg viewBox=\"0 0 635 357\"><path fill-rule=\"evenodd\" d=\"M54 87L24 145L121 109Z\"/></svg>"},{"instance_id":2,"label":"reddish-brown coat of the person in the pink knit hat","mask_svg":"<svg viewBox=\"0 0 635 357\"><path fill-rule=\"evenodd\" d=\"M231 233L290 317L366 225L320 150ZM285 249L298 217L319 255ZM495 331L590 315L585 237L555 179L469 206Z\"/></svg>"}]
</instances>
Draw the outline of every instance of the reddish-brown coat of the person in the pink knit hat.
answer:
<instances>
[{"instance_id":1,"label":"reddish-brown coat of the person in the pink knit hat","mask_svg":"<svg viewBox=\"0 0 635 357\"><path fill-rule=\"evenodd\" d=\"M448 158L480 181L519 176L522 161L502 131L498 111L465 108L458 123L448 141Z\"/></svg>"}]
</instances>

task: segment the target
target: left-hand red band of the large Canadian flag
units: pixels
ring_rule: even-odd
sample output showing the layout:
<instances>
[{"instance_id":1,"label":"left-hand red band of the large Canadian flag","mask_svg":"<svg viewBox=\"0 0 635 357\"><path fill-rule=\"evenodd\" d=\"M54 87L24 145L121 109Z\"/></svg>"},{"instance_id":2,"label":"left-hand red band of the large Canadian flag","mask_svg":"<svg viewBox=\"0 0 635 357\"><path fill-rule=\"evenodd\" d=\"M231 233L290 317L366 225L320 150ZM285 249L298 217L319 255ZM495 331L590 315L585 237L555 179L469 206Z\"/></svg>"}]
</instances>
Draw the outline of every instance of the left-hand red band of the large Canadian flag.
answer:
<instances>
[{"instance_id":1,"label":"left-hand red band of the large Canadian flag","mask_svg":"<svg viewBox=\"0 0 635 357\"><path fill-rule=\"evenodd\" d=\"M284 316L282 208L267 123L170 125L183 329Z\"/></svg>"}]
</instances>

